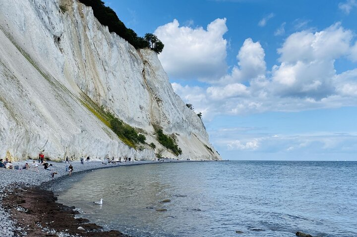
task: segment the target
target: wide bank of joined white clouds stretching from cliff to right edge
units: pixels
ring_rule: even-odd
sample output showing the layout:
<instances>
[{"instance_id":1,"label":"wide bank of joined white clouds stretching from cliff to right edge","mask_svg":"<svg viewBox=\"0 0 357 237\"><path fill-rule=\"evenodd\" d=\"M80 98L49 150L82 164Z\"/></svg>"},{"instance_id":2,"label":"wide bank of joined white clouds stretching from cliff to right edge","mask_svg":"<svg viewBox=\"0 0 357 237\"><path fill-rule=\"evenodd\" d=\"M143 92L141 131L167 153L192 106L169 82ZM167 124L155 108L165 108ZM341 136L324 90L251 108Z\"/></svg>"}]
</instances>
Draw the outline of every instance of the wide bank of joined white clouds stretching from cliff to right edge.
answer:
<instances>
[{"instance_id":1,"label":"wide bank of joined white clouds stretching from cliff to right edge","mask_svg":"<svg viewBox=\"0 0 357 237\"><path fill-rule=\"evenodd\" d=\"M357 68L338 74L335 61L354 60L354 33L336 23L317 32L300 31L278 48L279 63L268 70L264 48L246 39L229 73L207 86L173 84L203 119L216 115L301 111L357 105ZM245 145L245 144L244 144ZM289 148L288 146L287 148Z\"/></svg>"}]
</instances>

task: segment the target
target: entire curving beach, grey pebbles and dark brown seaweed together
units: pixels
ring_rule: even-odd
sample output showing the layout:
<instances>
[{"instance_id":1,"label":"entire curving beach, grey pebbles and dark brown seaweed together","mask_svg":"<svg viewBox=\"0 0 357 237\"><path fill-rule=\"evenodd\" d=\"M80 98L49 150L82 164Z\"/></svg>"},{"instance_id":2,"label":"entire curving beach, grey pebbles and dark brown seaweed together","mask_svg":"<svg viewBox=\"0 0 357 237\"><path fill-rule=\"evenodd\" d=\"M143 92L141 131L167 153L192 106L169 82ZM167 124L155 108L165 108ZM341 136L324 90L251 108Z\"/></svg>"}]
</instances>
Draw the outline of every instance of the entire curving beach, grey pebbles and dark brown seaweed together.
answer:
<instances>
[{"instance_id":1,"label":"entire curving beach, grey pebbles and dark brown seaweed together","mask_svg":"<svg viewBox=\"0 0 357 237\"><path fill-rule=\"evenodd\" d=\"M32 163L32 160L16 162L23 165L24 163ZM103 164L103 161L89 161L85 164L80 164L79 161L72 161L74 171L72 175L86 173L97 169L115 168L121 166L144 165L144 164L162 164L162 163L181 163L181 162L208 162L201 160L174 160L164 159L164 161L134 161L121 162L119 164ZM51 162L50 170L45 170L39 165L39 173L33 167L29 170L6 170L0 169L0 236L1 237L17 237L17 236L59 236L59 237L129 237L119 232L112 230L103 232L102 227L94 223L89 223L87 219L74 218L76 211L75 207L64 206L57 203L57 197L52 191L53 184L59 180L69 179L71 176L65 171L66 164L64 162ZM38 163L37 163L38 164ZM53 179L51 173L57 172ZM28 198L28 197L32 198ZM38 200L46 200L39 202ZM36 210L33 208L36 207ZM26 211L27 210L27 211ZM30 211L29 211L30 210ZM32 210L32 211L31 211ZM47 212L43 212L47 210ZM51 213L52 216L47 214ZM32 218L26 218L26 217ZM54 220L49 224L49 220ZM53 223L59 218L65 218L71 228L63 228L62 225L54 225ZM43 220L43 221L41 221ZM78 220L80 221L78 223ZM37 223L36 223L37 221ZM57 221L56 221L57 222ZM79 226L85 227L83 230L77 230ZM52 229L54 227L54 229ZM76 227L76 228L74 228ZM57 228L57 230L56 230ZM67 231L66 231L67 230Z\"/></svg>"}]
</instances>

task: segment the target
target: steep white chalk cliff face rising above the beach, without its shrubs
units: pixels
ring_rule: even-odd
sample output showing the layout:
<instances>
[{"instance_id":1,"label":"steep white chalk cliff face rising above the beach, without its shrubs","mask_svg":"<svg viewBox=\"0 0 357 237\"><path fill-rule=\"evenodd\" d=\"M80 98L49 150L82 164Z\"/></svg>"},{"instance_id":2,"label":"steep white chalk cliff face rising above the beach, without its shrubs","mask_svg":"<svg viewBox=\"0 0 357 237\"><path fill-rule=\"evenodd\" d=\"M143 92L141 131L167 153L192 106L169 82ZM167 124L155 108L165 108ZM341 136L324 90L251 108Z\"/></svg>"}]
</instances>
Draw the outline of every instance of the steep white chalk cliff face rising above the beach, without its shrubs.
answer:
<instances>
[{"instance_id":1,"label":"steep white chalk cliff face rising above the beach, without its shrubs","mask_svg":"<svg viewBox=\"0 0 357 237\"><path fill-rule=\"evenodd\" d=\"M154 142L175 137L180 159L220 159L198 116L169 83L157 54L137 51L76 0L0 0L0 157L90 155L153 159L120 141L91 105ZM65 6L65 11L60 9ZM64 9L62 7L62 9ZM209 148L212 149L212 151ZM175 157L169 151L164 156Z\"/></svg>"}]
</instances>

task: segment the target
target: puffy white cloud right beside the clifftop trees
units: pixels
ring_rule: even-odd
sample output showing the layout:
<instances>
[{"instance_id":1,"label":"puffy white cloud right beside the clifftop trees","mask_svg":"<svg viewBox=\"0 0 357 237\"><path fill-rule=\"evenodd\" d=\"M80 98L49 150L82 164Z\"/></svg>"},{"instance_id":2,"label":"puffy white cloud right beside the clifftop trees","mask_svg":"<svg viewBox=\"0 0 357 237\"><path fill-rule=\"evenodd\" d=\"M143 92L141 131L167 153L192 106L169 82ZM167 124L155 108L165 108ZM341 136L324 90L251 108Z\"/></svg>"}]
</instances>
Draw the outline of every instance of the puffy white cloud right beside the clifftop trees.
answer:
<instances>
[{"instance_id":1,"label":"puffy white cloud right beside the clifftop trees","mask_svg":"<svg viewBox=\"0 0 357 237\"><path fill-rule=\"evenodd\" d=\"M154 34L165 48L159 59L171 77L209 80L226 73L228 31L226 18L216 19L202 27L180 26L178 20L158 27Z\"/></svg>"}]
</instances>

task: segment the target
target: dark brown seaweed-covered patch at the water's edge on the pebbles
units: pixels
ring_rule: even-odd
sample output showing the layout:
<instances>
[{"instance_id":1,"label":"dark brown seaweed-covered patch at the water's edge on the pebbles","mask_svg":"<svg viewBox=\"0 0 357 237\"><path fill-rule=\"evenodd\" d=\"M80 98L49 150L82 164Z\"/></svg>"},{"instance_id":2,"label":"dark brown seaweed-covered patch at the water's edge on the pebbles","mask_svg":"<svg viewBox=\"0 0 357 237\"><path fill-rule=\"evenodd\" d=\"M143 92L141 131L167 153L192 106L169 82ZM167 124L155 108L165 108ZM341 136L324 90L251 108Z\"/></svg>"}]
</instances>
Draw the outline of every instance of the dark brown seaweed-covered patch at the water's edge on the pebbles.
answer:
<instances>
[{"instance_id":1,"label":"dark brown seaweed-covered patch at the water's edge on the pebbles","mask_svg":"<svg viewBox=\"0 0 357 237\"><path fill-rule=\"evenodd\" d=\"M75 218L78 211L56 202L52 191L39 188L17 188L6 193L2 205L16 221L15 234L28 237L82 236L129 237L119 231L102 231L102 227L83 218ZM78 230L82 227L84 230Z\"/></svg>"}]
</instances>

